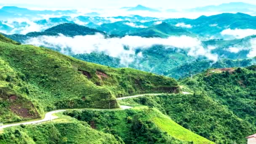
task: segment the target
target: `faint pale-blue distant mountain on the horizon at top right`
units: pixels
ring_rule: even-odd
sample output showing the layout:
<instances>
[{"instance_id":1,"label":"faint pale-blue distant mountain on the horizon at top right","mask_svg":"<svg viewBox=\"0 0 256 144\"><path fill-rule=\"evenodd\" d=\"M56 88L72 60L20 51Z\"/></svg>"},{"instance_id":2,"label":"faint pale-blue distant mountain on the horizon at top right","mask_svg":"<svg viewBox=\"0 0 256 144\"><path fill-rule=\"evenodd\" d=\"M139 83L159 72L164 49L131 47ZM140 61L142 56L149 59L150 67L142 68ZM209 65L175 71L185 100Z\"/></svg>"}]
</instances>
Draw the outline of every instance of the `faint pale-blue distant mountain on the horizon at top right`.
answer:
<instances>
[{"instance_id":1,"label":"faint pale-blue distant mountain on the horizon at top right","mask_svg":"<svg viewBox=\"0 0 256 144\"><path fill-rule=\"evenodd\" d=\"M219 11L219 12L246 13L246 12L255 11L255 8L256 8L256 5L237 2L237 3L224 3L221 5L209 5L205 7L197 7L197 8L188 9L187 11L191 11L191 12L208 12L208 11L218 12Z\"/></svg>"}]
</instances>

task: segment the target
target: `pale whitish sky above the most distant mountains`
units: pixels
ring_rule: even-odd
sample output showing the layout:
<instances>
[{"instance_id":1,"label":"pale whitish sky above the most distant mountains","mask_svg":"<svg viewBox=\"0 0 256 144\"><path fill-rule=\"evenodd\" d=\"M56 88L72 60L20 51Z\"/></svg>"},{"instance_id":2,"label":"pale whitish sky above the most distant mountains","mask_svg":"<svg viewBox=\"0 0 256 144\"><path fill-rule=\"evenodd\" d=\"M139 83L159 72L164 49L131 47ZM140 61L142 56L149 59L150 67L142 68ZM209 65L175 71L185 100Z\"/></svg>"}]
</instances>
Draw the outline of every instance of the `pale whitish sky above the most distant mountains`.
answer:
<instances>
[{"instance_id":1,"label":"pale whitish sky above the most distant mountains","mask_svg":"<svg viewBox=\"0 0 256 144\"><path fill-rule=\"evenodd\" d=\"M26 8L119 8L138 4L152 8L194 8L221 3L244 2L256 5L256 0L0 0L0 5Z\"/></svg>"}]
</instances>

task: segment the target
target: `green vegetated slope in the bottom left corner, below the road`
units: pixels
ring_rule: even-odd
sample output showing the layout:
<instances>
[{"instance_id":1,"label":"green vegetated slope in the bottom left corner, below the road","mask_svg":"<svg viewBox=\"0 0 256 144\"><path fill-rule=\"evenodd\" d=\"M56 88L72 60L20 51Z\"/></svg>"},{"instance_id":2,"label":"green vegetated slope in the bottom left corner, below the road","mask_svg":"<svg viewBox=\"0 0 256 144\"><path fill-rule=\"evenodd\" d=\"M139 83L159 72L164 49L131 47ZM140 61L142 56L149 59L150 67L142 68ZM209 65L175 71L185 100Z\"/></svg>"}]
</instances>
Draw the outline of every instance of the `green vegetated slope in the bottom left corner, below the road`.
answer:
<instances>
[{"instance_id":1,"label":"green vegetated slope in the bottom left corner, below the road","mask_svg":"<svg viewBox=\"0 0 256 144\"><path fill-rule=\"evenodd\" d=\"M61 115L59 115L61 116ZM68 116L37 125L5 128L1 144L123 144L117 136L90 128L85 122Z\"/></svg>"}]
</instances>

